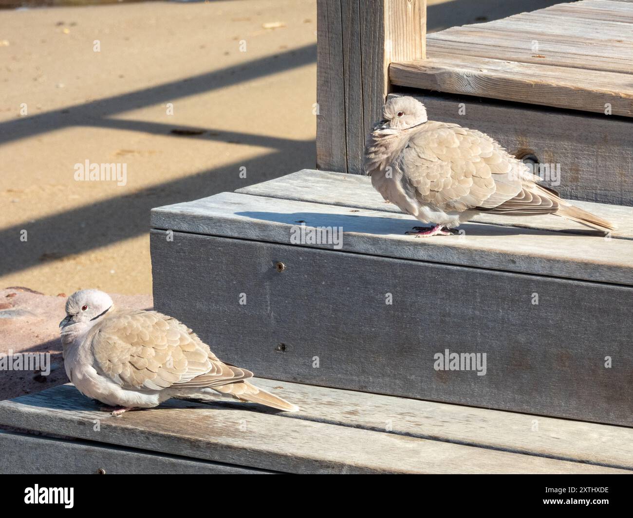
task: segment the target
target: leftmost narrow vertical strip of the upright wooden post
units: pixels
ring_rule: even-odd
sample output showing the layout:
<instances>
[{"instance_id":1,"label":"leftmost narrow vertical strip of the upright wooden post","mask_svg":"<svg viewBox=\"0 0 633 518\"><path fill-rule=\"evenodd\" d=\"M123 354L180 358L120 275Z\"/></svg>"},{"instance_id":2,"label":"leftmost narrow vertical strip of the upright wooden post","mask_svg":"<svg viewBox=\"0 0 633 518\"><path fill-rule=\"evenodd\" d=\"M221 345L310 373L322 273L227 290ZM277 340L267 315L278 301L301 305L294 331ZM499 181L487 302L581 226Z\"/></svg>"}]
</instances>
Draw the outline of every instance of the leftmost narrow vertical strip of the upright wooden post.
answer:
<instances>
[{"instance_id":1,"label":"leftmost narrow vertical strip of the upright wooden post","mask_svg":"<svg viewBox=\"0 0 633 518\"><path fill-rule=\"evenodd\" d=\"M316 167L347 171L341 0L318 0L316 13Z\"/></svg>"}]
</instances>

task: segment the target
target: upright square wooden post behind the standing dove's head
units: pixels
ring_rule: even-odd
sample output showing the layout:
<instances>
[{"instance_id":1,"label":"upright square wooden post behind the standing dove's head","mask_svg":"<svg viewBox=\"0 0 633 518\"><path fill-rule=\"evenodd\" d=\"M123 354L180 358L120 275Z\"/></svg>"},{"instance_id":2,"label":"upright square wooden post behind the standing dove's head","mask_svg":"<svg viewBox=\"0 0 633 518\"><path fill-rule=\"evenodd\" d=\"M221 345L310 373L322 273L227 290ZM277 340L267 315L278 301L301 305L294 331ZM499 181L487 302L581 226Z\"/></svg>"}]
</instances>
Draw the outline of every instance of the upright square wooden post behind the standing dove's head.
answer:
<instances>
[{"instance_id":1,"label":"upright square wooden post behind the standing dove's head","mask_svg":"<svg viewBox=\"0 0 633 518\"><path fill-rule=\"evenodd\" d=\"M316 166L363 174L389 64L425 58L426 0L318 0Z\"/></svg>"}]
</instances>

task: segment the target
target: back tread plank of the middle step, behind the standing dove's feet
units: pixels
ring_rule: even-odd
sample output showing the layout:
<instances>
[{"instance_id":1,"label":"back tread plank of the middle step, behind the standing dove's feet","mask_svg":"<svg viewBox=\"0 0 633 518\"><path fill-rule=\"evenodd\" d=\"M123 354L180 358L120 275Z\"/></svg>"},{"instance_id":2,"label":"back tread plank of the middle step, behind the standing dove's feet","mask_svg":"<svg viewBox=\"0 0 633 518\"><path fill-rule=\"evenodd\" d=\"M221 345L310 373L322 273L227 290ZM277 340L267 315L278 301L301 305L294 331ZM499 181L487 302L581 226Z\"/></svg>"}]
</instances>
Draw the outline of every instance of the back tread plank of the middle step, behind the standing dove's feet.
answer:
<instances>
[{"instance_id":1,"label":"back tread plank of the middle step, behind the standing dove's feet","mask_svg":"<svg viewBox=\"0 0 633 518\"><path fill-rule=\"evenodd\" d=\"M304 169L291 175L268 180L268 182L242 187L235 192L401 214L397 206L392 203L385 203L382 196L372 187L370 178L367 176L345 175L344 173L332 173L330 171ZM633 239L632 207L592 202L574 202L574 204L587 211L600 214L618 225L618 230L613 231L613 238ZM520 228L553 231L583 233L587 230L586 227L579 223L549 215L503 216L482 213L473 218L473 221L490 225L517 226Z\"/></svg>"}]
</instances>

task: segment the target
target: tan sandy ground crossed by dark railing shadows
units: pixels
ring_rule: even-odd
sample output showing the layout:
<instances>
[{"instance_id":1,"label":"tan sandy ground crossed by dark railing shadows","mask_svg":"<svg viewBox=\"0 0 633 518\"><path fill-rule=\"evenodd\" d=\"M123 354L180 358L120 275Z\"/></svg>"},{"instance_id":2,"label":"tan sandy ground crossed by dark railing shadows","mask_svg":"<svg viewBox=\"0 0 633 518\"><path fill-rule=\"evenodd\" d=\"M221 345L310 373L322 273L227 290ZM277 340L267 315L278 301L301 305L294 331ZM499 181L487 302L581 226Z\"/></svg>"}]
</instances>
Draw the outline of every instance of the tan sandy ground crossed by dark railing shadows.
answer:
<instances>
[{"instance_id":1,"label":"tan sandy ground crossed by dark railing shadows","mask_svg":"<svg viewBox=\"0 0 633 518\"><path fill-rule=\"evenodd\" d=\"M430 0L429 28L551 3ZM5 10L0 27L0 288L151 293L149 209L315 165L315 0ZM75 181L86 160L127 182Z\"/></svg>"}]
</instances>

